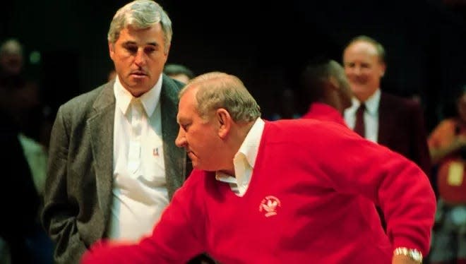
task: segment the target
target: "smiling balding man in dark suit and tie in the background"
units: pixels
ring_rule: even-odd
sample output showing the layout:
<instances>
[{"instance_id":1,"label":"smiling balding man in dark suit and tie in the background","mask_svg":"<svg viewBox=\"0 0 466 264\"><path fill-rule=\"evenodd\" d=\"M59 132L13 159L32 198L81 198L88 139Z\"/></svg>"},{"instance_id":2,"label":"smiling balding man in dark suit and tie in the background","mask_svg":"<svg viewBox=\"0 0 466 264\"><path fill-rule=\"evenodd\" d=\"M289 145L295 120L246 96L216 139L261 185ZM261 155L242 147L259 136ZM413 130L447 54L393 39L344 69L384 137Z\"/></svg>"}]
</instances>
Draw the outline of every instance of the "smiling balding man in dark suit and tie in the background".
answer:
<instances>
[{"instance_id":1,"label":"smiling balding man in dark suit and tie in the background","mask_svg":"<svg viewBox=\"0 0 466 264\"><path fill-rule=\"evenodd\" d=\"M347 125L364 138L385 145L431 173L422 109L417 102L381 91L385 49L367 36L354 37L343 52L343 66L354 94L345 110ZM381 212L381 210L379 210ZM382 224L385 222L382 217Z\"/></svg>"}]
</instances>

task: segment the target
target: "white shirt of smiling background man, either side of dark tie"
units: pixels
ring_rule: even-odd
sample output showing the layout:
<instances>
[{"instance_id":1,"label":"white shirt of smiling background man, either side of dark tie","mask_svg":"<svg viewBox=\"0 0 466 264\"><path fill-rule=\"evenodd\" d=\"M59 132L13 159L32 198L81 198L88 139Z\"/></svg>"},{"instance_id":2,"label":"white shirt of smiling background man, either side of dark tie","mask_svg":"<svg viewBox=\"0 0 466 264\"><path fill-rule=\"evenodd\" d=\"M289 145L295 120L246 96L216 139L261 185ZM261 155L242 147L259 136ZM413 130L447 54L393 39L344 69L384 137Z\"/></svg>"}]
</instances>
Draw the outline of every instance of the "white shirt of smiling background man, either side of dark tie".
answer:
<instances>
[{"instance_id":1,"label":"white shirt of smiling background man, either side of dark tie","mask_svg":"<svg viewBox=\"0 0 466 264\"><path fill-rule=\"evenodd\" d=\"M364 104L366 104L366 111L364 111L364 126L365 135L368 140L377 143L378 140L378 104L381 101L381 90L377 89L374 95L371 95ZM352 98L352 106L345 109L345 121L349 128L354 129L356 124L356 112L361 102L355 97Z\"/></svg>"}]
</instances>

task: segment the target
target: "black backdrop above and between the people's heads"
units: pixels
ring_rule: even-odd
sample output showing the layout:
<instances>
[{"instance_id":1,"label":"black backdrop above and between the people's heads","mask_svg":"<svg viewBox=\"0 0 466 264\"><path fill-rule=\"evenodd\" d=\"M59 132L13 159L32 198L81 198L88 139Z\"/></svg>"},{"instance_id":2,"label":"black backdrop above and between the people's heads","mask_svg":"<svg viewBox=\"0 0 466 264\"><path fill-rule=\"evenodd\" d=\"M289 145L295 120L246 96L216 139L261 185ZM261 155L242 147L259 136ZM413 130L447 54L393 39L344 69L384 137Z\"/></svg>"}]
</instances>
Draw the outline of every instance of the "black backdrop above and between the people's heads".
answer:
<instances>
[{"instance_id":1,"label":"black backdrop above and between the people's heads","mask_svg":"<svg viewBox=\"0 0 466 264\"><path fill-rule=\"evenodd\" d=\"M26 59L40 52L28 74L40 80L54 109L107 80L112 69L107 30L127 1L4 1L0 40L16 37ZM285 88L297 92L309 59L341 62L343 47L369 35L386 48L382 89L422 99L426 129L451 111L455 90L466 85L466 1L159 1L173 23L169 63L196 74L225 71L239 76L263 109L277 111Z\"/></svg>"}]
</instances>

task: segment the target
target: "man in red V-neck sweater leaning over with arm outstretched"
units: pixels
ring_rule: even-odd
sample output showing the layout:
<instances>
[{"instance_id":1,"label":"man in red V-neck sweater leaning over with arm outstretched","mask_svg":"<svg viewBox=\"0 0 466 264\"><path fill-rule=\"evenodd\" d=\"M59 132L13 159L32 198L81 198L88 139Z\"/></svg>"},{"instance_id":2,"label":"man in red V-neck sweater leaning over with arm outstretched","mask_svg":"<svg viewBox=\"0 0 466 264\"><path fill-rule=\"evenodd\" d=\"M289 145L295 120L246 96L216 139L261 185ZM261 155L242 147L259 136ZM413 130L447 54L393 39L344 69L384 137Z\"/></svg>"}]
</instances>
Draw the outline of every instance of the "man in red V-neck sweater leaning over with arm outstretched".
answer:
<instances>
[{"instance_id":1,"label":"man in red V-neck sweater leaning over with arm outstretched","mask_svg":"<svg viewBox=\"0 0 466 264\"><path fill-rule=\"evenodd\" d=\"M436 200L416 164L335 122L260 116L239 78L191 80L176 140L191 176L151 236L100 241L83 263L422 262Z\"/></svg>"}]
</instances>

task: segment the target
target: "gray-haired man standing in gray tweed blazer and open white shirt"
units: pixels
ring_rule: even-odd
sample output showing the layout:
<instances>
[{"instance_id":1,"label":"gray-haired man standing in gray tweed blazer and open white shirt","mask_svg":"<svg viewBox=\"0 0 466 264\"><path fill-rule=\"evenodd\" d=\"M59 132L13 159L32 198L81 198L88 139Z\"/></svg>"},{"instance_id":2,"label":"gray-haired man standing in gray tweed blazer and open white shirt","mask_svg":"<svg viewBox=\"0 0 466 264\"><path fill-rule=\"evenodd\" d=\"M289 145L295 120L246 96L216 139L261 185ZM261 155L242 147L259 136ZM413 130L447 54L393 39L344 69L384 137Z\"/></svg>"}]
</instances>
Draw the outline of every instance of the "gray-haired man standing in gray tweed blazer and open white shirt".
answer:
<instances>
[{"instance_id":1,"label":"gray-haired man standing in gray tweed blazer and open white shirt","mask_svg":"<svg viewBox=\"0 0 466 264\"><path fill-rule=\"evenodd\" d=\"M117 78L59 107L42 212L56 263L78 263L97 239L150 234L189 173L174 145L182 83L162 73L171 40L161 6L126 4L108 33Z\"/></svg>"}]
</instances>

